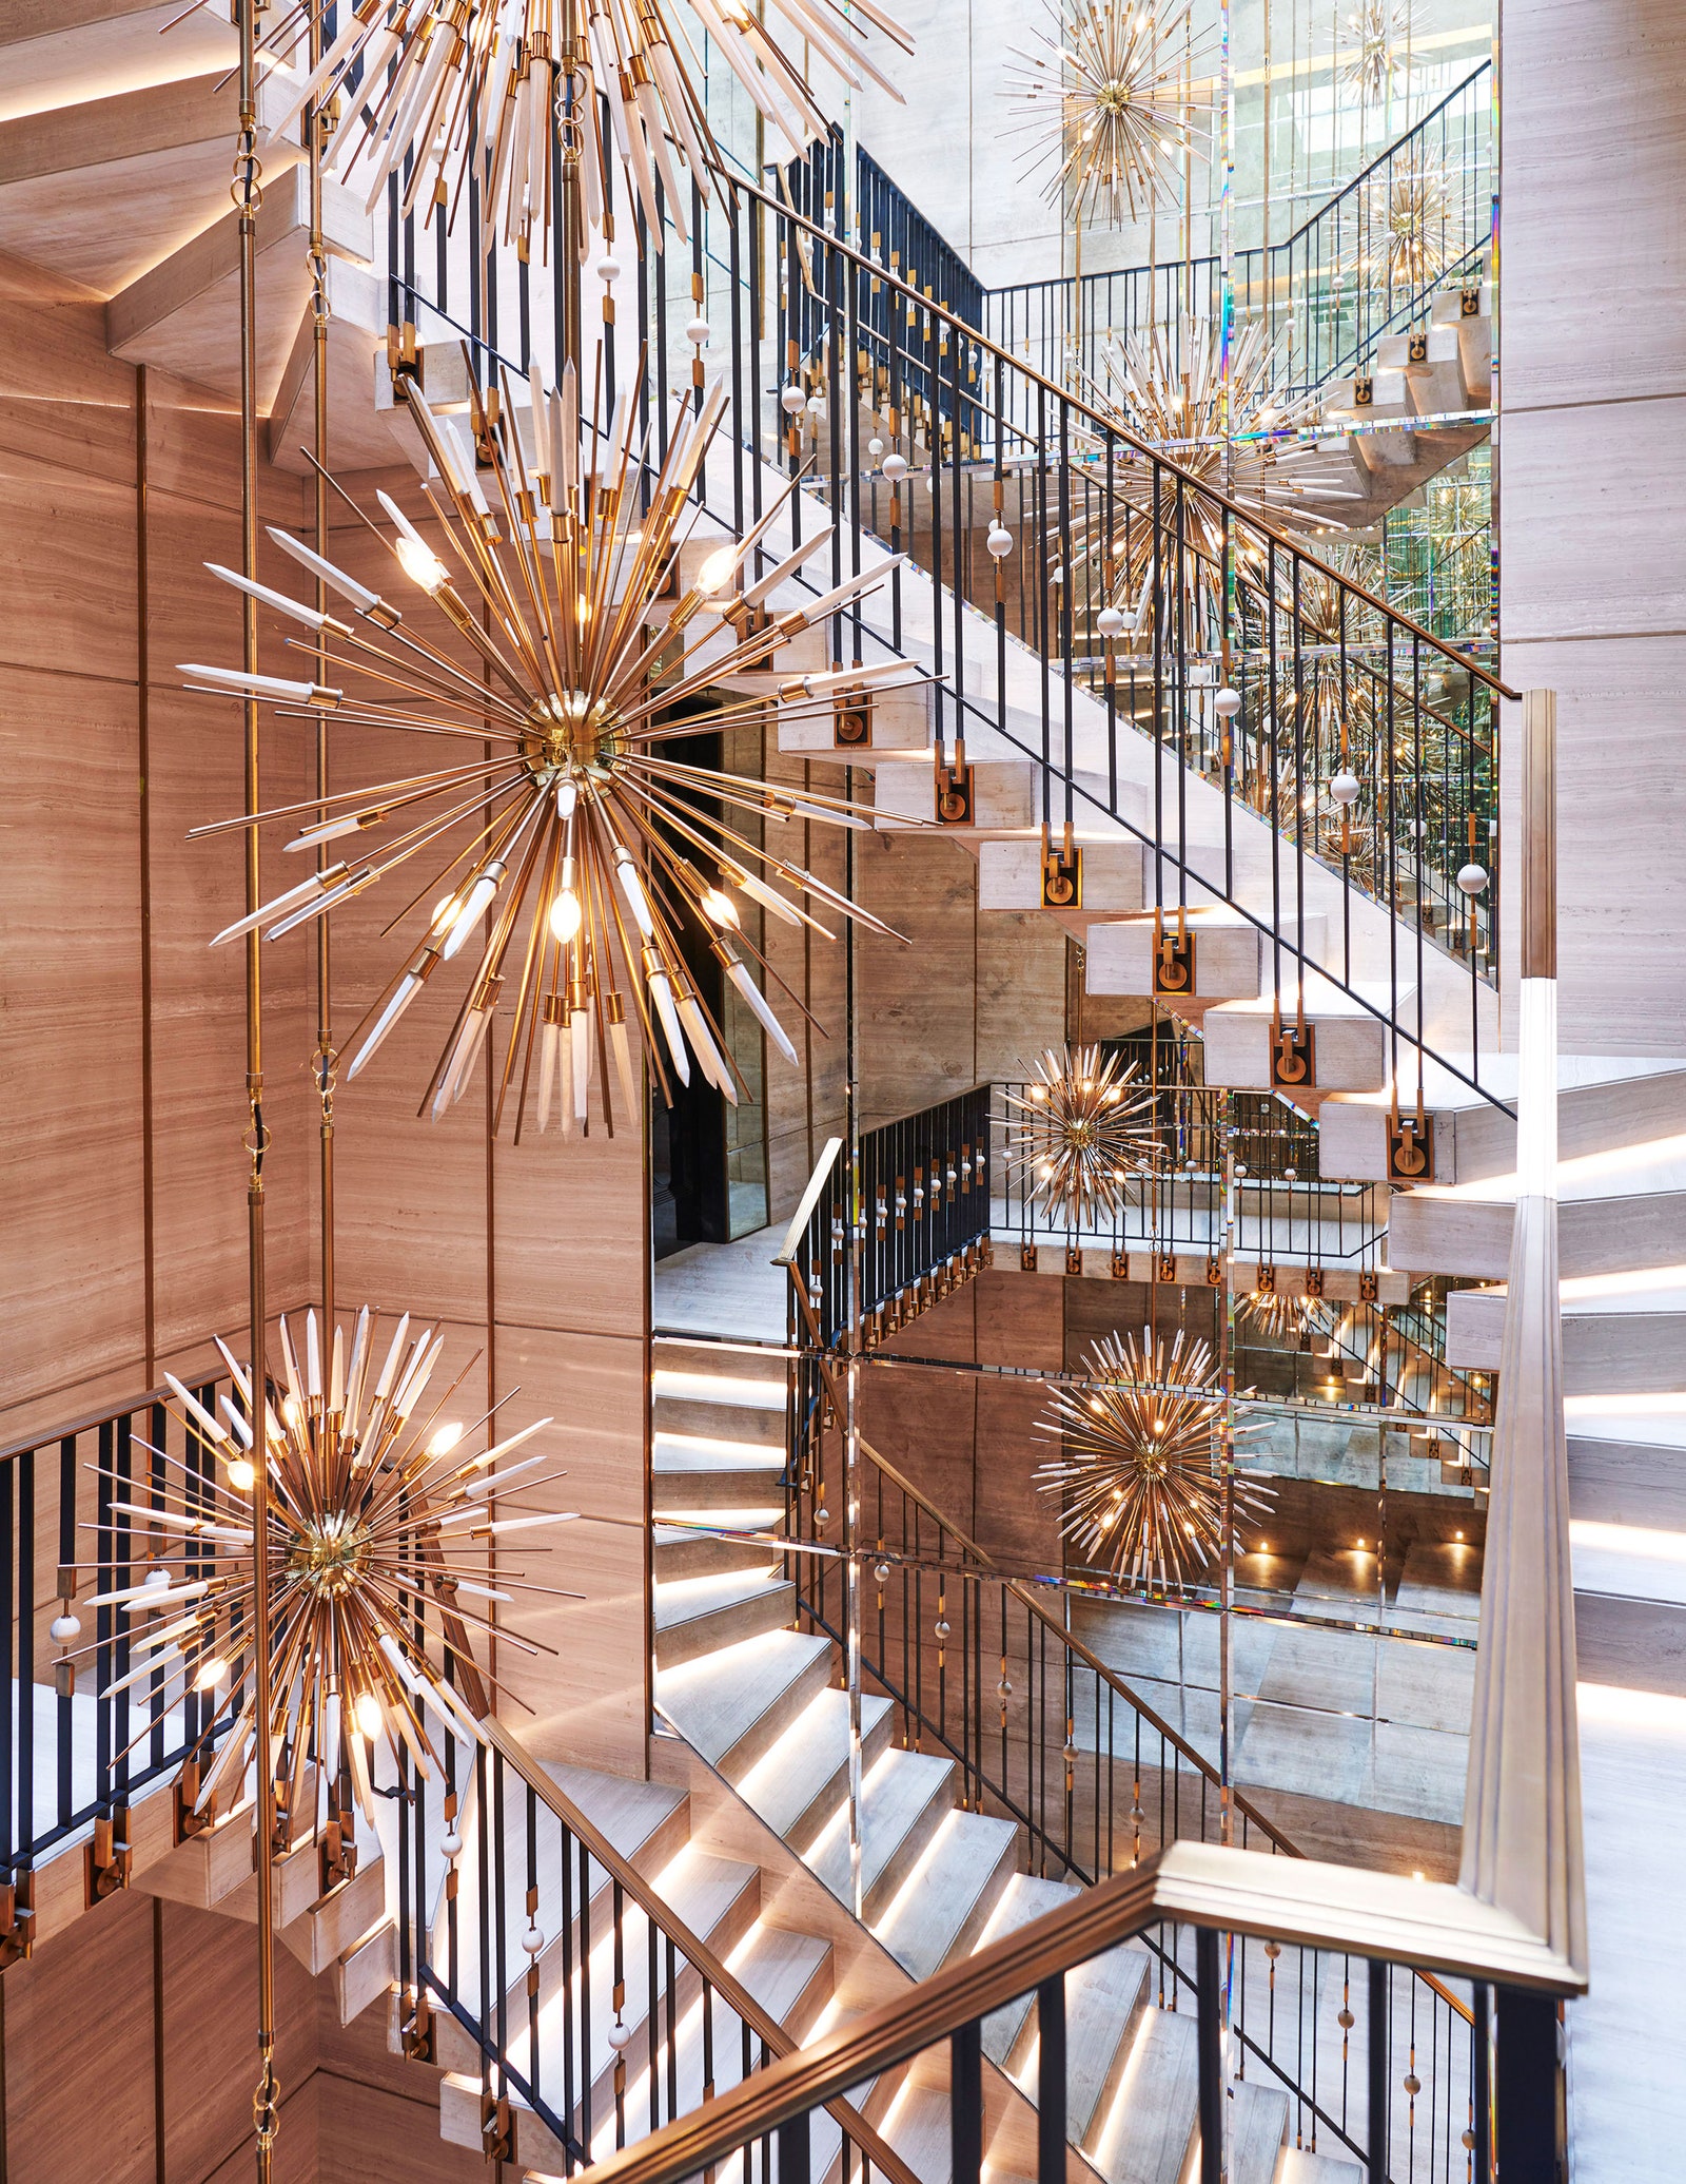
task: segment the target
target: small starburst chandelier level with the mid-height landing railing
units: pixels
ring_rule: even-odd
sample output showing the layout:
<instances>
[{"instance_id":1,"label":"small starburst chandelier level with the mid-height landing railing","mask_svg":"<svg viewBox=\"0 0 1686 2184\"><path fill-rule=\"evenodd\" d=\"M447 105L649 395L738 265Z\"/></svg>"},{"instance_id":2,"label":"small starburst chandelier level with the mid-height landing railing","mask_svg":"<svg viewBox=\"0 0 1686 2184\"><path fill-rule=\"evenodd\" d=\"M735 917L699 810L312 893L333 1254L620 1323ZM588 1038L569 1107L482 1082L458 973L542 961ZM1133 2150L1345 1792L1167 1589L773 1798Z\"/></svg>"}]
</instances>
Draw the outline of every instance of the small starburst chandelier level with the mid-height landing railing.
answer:
<instances>
[{"instance_id":1,"label":"small starburst chandelier level with the mid-height landing railing","mask_svg":"<svg viewBox=\"0 0 1686 2184\"><path fill-rule=\"evenodd\" d=\"M1008 1092L1008 1160L1049 1219L1064 1227L1112 1221L1132 1175L1152 1175L1165 1147L1139 1061L1099 1046L1049 1046L1023 1096Z\"/></svg>"}]
</instances>

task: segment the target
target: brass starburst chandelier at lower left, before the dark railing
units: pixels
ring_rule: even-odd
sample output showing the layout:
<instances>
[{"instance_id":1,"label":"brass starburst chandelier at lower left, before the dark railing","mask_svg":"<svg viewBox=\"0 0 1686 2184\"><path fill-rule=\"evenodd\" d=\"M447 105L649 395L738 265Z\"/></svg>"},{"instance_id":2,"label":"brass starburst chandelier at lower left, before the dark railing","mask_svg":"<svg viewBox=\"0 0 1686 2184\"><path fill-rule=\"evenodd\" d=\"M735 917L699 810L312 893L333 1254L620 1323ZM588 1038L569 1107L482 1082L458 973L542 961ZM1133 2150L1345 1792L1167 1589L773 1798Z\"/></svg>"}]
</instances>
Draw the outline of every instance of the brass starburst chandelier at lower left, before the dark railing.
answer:
<instances>
[{"instance_id":1,"label":"brass starburst chandelier at lower left, before the dark railing","mask_svg":"<svg viewBox=\"0 0 1686 2184\"><path fill-rule=\"evenodd\" d=\"M510 1531L569 1522L571 1511L504 1514L502 1500L561 1479L543 1455L517 1457L550 1420L491 1441L478 1455L443 1411L475 1361L443 1396L434 1393L445 1348L432 1328L410 1330L410 1315L390 1337L366 1308L347 1343L342 1326L318 1334L305 1317L303 1358L286 1319L279 1326L286 1393L264 1391L268 1463L268 1728L277 1782L290 1784L290 1813L301 1813L305 1767L316 1760L332 1784L340 1765L375 1821L375 1749L397 1765L443 1773L438 1730L484 1743L475 1712L495 1684L473 1660L471 1631L491 1631L489 1612L539 1586L523 1570L489 1577L489 1546ZM220 1476L201 1476L161 1448L142 1444L161 1465L164 1500L116 1500L111 1507L161 1535L146 1577L94 1605L131 1623L120 1684L146 1684L157 1673L179 1679L214 1704L201 1745L227 1690L246 1679L244 1701L209 1765L198 1765L196 1811L233 1797L253 1760L257 1690L251 1677L255 1629L253 1566L253 1398L251 1372L218 1339L236 1398L222 1413L205 1409L174 1376L172 1413L190 1437L214 1450ZM489 1413L491 1415L491 1413ZM537 1476L530 1476L537 1470ZM124 1483L113 1479L113 1489ZM489 1507L499 1496L497 1507ZM517 1505L519 1507L519 1505ZM526 1548L523 1553L530 1553ZM539 1553L550 1553L541 1548ZM144 1623L140 1618L146 1618ZM164 1621L157 1621L157 1618ZM425 1627L423 1627L425 1618ZM497 1625L497 1642L521 1653L543 1651ZM92 1647L85 1651L94 1651ZM480 1704L471 1704L480 1699Z\"/></svg>"}]
</instances>

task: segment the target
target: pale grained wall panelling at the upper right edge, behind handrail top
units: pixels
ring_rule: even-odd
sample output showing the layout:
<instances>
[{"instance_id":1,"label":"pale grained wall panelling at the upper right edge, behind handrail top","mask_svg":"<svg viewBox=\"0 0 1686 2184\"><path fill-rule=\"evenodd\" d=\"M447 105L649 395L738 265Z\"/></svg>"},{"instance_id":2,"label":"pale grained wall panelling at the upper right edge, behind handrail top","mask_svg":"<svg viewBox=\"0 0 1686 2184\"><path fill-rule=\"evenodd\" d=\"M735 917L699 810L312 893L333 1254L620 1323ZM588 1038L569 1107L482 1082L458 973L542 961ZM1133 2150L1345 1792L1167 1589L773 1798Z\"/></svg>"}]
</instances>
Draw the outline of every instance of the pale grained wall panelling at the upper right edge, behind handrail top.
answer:
<instances>
[{"instance_id":1,"label":"pale grained wall panelling at the upper right edge, behind handrail top","mask_svg":"<svg viewBox=\"0 0 1686 2184\"><path fill-rule=\"evenodd\" d=\"M1503 675L1557 690L1559 1035L1682 1055L1686 13L1507 0L1501 111Z\"/></svg>"}]
</instances>

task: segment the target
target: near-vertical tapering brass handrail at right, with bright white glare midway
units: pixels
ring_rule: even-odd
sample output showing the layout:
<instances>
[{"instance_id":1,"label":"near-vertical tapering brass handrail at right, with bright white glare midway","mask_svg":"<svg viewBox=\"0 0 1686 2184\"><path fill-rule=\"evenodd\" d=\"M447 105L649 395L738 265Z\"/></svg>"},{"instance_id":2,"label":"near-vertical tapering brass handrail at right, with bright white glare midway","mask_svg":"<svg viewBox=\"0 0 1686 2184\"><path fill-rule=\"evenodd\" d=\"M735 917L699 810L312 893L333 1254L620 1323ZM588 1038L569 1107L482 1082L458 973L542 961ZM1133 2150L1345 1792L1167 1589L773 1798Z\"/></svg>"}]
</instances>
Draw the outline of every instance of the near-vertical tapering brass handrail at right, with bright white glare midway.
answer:
<instances>
[{"instance_id":1,"label":"near-vertical tapering brass handrail at right, with bright white glare midway","mask_svg":"<svg viewBox=\"0 0 1686 2184\"><path fill-rule=\"evenodd\" d=\"M1551 690L1522 697L1516 1232L1492 1428L1459 1885L1586 1970L1575 1579L1557 1304L1557 882Z\"/></svg>"}]
</instances>

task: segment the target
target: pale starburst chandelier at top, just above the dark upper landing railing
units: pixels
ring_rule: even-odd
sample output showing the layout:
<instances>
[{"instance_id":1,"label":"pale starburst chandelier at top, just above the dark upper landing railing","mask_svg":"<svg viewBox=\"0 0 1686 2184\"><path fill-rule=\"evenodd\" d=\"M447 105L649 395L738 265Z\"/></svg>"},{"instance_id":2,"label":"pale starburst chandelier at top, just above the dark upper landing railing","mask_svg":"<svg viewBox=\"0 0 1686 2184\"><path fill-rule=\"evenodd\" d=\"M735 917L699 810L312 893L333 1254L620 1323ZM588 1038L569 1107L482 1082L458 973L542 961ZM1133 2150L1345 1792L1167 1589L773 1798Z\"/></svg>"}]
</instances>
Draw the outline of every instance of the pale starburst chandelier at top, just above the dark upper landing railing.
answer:
<instances>
[{"instance_id":1,"label":"pale starburst chandelier at top, just above the dark upper landing railing","mask_svg":"<svg viewBox=\"0 0 1686 2184\"><path fill-rule=\"evenodd\" d=\"M1043 197L1082 227L1145 218L1193 149L1191 4L1154 11L1123 0L1058 0L1027 52L1012 50L1014 105L1032 107L1025 175L1047 168ZM1204 55L1204 41L1202 41ZM1047 140L1053 140L1051 144Z\"/></svg>"}]
</instances>

